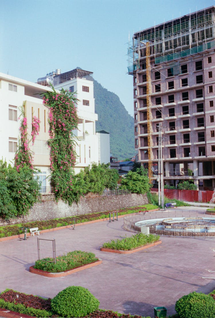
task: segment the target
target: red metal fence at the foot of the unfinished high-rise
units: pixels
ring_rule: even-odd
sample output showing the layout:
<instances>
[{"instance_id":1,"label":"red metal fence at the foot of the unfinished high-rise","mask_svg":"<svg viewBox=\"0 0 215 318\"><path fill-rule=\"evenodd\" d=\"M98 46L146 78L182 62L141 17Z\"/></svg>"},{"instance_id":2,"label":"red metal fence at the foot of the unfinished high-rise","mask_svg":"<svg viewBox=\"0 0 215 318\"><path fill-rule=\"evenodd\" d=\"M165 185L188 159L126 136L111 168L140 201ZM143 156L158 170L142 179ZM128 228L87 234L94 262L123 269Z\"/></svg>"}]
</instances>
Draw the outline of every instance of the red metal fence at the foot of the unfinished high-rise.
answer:
<instances>
[{"instance_id":1,"label":"red metal fence at the foot of the unfinished high-rise","mask_svg":"<svg viewBox=\"0 0 215 318\"><path fill-rule=\"evenodd\" d=\"M152 188L151 192L158 192L158 189ZM177 199L188 202L210 202L213 191L197 190L177 190L164 189L164 195L170 199Z\"/></svg>"}]
</instances>

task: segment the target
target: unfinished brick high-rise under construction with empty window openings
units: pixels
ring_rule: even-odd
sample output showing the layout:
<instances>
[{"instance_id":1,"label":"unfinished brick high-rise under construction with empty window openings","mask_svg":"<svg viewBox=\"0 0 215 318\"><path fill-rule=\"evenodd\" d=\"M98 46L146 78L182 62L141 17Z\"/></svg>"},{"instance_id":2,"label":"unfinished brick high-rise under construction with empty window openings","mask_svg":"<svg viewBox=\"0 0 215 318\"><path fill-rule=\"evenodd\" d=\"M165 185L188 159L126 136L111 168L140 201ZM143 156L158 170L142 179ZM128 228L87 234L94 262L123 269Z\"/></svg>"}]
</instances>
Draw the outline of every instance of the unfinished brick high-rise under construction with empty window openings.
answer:
<instances>
[{"instance_id":1,"label":"unfinished brick high-rise under construction with empty window openings","mask_svg":"<svg viewBox=\"0 0 215 318\"><path fill-rule=\"evenodd\" d=\"M215 7L134 33L128 57L135 147L154 186L159 147L166 184L215 188Z\"/></svg>"}]
</instances>

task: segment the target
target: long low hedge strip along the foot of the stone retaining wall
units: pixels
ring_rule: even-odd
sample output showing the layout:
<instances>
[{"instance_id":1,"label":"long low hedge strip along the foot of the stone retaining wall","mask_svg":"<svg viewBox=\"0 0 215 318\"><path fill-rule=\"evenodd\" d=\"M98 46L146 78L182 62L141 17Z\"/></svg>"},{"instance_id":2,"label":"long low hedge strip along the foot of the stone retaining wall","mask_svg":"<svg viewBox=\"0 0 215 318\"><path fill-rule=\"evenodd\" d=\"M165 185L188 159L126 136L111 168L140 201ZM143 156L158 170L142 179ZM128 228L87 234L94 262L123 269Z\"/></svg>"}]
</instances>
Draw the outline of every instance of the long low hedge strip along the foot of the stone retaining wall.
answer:
<instances>
[{"instance_id":1,"label":"long low hedge strip along the foot of the stone retaining wall","mask_svg":"<svg viewBox=\"0 0 215 318\"><path fill-rule=\"evenodd\" d=\"M145 204L144 206L141 205L138 207L131 207L129 209L118 210L118 215L136 213L140 209L143 209L143 207L145 207L146 210L153 210L158 208L157 205ZM67 217L67 218L55 218L55 219L45 220L45 221L38 220L38 221L32 221L27 223L19 223L16 225L0 226L0 238L22 234L23 230L21 229L21 227L28 227L28 228L38 227L39 230L46 230L46 229L52 229L54 227L71 225L71 223L74 223L74 220L75 220L75 223L82 223L87 221L103 219L103 218L109 218L109 211L76 215L76 216Z\"/></svg>"}]
</instances>

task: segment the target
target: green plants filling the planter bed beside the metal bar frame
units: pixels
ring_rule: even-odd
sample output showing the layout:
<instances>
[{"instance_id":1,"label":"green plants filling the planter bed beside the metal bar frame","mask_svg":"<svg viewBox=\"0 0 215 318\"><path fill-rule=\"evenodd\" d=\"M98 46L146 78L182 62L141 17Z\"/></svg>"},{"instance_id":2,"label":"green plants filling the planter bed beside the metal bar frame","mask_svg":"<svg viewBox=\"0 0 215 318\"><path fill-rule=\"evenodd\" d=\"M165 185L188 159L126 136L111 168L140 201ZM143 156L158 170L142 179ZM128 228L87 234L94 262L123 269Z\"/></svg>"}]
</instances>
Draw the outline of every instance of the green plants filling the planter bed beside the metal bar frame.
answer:
<instances>
[{"instance_id":1,"label":"green plants filling the planter bed beside the metal bar frame","mask_svg":"<svg viewBox=\"0 0 215 318\"><path fill-rule=\"evenodd\" d=\"M95 254L83 251L69 252L67 255L56 257L56 263L53 258L47 257L35 262L34 268L41 269L46 272L59 273L86 265L97 261Z\"/></svg>"}]
</instances>

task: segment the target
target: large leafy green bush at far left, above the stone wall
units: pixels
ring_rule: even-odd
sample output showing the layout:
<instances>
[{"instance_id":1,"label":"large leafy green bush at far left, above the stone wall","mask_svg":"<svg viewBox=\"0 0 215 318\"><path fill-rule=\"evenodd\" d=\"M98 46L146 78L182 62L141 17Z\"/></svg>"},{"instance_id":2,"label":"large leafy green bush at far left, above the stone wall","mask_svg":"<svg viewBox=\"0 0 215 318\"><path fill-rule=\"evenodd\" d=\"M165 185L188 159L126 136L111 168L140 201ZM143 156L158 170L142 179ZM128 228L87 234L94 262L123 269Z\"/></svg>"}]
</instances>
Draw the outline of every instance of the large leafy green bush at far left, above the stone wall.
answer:
<instances>
[{"instance_id":1,"label":"large leafy green bush at far left, above the stone wall","mask_svg":"<svg viewBox=\"0 0 215 318\"><path fill-rule=\"evenodd\" d=\"M0 160L0 217L4 219L25 215L39 197L39 184L28 165L7 167Z\"/></svg>"}]
</instances>

